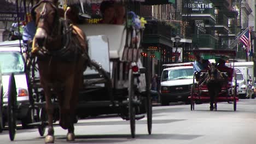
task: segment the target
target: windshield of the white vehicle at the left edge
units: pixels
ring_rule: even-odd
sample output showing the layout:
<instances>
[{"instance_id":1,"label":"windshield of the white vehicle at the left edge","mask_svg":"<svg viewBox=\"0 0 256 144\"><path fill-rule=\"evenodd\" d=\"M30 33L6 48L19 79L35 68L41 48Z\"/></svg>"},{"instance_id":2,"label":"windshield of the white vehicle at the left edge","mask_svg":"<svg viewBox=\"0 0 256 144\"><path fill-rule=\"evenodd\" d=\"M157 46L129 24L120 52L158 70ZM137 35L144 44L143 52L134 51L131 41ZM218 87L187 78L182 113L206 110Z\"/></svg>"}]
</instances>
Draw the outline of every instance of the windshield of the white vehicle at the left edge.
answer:
<instances>
[{"instance_id":1,"label":"windshield of the white vehicle at the left edge","mask_svg":"<svg viewBox=\"0 0 256 144\"><path fill-rule=\"evenodd\" d=\"M20 52L2 51L0 52L0 65L2 74L24 72L24 59Z\"/></svg>"}]
</instances>

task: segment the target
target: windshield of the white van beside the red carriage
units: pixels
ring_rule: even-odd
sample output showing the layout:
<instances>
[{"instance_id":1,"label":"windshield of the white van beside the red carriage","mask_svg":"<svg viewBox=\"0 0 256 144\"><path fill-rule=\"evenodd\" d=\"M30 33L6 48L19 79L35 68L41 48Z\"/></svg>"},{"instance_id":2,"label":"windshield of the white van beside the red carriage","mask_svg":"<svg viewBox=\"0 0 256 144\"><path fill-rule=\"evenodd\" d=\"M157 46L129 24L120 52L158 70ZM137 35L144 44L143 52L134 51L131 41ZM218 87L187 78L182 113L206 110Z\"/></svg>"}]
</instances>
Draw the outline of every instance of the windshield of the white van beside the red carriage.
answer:
<instances>
[{"instance_id":1,"label":"windshield of the white van beside the red carriage","mask_svg":"<svg viewBox=\"0 0 256 144\"><path fill-rule=\"evenodd\" d=\"M193 79L193 68L164 70L162 72L162 81Z\"/></svg>"}]
</instances>

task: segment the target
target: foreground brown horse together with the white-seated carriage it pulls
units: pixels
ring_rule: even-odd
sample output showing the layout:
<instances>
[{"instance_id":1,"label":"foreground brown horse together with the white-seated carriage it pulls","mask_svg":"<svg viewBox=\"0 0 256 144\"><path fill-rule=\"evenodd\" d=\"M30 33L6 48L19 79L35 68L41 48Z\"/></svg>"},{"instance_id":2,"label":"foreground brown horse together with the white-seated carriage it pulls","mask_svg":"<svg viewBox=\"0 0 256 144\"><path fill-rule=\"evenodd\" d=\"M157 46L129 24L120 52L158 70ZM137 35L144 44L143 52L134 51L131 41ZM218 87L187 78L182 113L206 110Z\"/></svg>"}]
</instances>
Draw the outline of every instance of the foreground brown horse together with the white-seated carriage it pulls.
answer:
<instances>
[{"instance_id":1,"label":"foreground brown horse together with the white-seated carriage it pulls","mask_svg":"<svg viewBox=\"0 0 256 144\"><path fill-rule=\"evenodd\" d=\"M139 59L143 29L127 25L74 26L59 17L56 2L43 0L32 8L37 32L32 50L27 52L26 71L31 95L28 106L37 112L38 122L31 125L38 125L43 136L48 123L45 143L53 143L53 122L59 121L68 130L67 141L73 141L75 115L115 113L130 121L133 138L136 120L147 116L151 134L150 63L148 60L144 68ZM16 131L15 89L12 75L8 98L11 140Z\"/></svg>"}]
</instances>

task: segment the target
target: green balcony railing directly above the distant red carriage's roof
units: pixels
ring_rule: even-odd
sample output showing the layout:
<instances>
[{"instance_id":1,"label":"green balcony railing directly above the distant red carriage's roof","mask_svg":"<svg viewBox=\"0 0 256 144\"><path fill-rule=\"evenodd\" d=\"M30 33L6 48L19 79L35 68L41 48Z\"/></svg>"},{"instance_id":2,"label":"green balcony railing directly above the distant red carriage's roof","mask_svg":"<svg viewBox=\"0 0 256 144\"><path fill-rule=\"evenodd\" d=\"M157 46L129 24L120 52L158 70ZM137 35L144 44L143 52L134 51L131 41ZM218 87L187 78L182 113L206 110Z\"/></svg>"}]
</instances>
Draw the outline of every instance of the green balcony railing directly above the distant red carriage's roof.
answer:
<instances>
[{"instance_id":1,"label":"green balcony railing directly above the distant red carriage's roof","mask_svg":"<svg viewBox=\"0 0 256 144\"><path fill-rule=\"evenodd\" d=\"M215 49L217 39L210 34L199 34L193 35L193 43L197 44L198 47L208 47Z\"/></svg>"}]
</instances>

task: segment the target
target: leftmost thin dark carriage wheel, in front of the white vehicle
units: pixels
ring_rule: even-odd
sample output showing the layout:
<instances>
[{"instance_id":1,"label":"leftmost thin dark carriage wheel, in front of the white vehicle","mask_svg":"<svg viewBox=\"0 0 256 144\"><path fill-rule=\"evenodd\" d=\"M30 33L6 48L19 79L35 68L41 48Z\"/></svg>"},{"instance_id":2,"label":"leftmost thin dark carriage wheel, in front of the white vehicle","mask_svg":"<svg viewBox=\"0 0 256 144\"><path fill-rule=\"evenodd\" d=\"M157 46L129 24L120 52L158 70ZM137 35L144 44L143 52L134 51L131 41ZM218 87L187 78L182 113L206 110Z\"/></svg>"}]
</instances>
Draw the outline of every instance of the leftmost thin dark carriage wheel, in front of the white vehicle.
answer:
<instances>
[{"instance_id":1,"label":"leftmost thin dark carriage wheel, in front of the white vehicle","mask_svg":"<svg viewBox=\"0 0 256 144\"><path fill-rule=\"evenodd\" d=\"M9 137L13 141L16 132L16 105L17 105L17 92L14 74L10 75L9 88L8 88L8 127Z\"/></svg>"}]
</instances>

